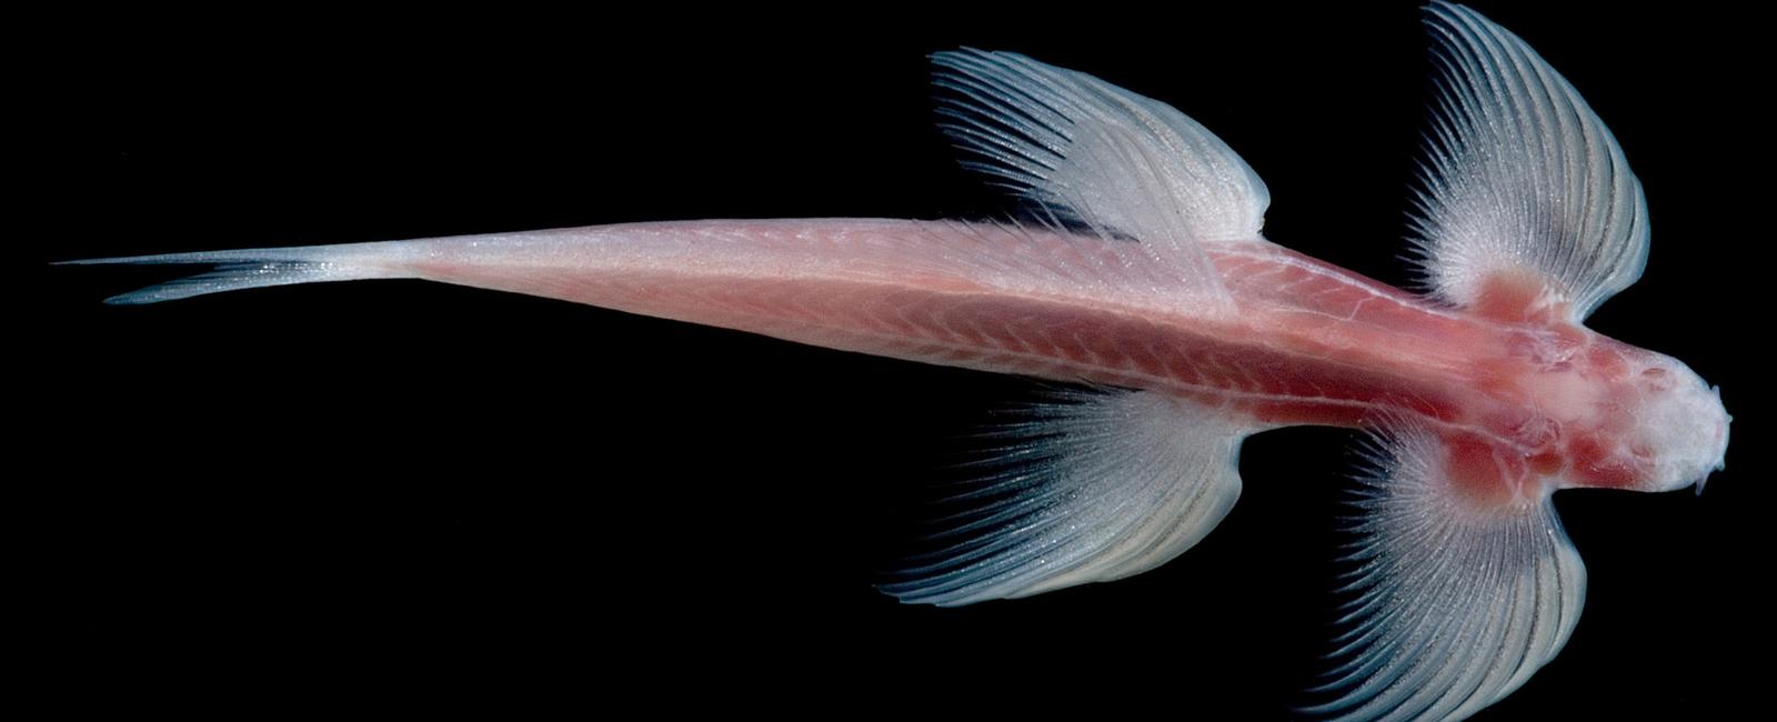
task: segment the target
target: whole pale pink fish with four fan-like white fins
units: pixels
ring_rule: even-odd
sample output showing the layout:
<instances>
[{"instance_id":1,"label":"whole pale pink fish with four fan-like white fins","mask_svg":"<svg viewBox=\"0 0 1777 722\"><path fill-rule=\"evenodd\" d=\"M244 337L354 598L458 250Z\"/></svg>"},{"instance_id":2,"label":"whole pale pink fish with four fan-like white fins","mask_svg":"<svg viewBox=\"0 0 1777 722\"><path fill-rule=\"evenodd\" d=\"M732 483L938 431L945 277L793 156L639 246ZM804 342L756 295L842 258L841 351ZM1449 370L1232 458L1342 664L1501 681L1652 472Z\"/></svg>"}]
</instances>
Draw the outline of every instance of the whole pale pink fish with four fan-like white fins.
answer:
<instances>
[{"instance_id":1,"label":"whole pale pink fish with four fan-like white fins","mask_svg":"<svg viewBox=\"0 0 1777 722\"><path fill-rule=\"evenodd\" d=\"M1022 224L663 222L91 263L217 265L123 304L425 277L1089 384L1015 430L988 503L951 530L963 550L885 587L908 601L1151 569L1228 512L1246 436L1363 429L1359 596L1338 697L1310 711L1461 718L1523 685L1576 621L1583 567L1548 494L1701 487L1727 416L1676 359L1582 325L1647 247L1608 130L1503 28L1459 5L1432 5L1429 25L1450 103L1420 212L1429 297L1263 240L1263 181L1176 110L981 52L936 57L945 117L970 164L1032 205ZM1514 124L1519 110L1548 124ZM686 269L711 276L679 288ZM1073 535L1054 533L1063 523ZM1411 544L1420 533L1443 542ZM1436 557L1446 548L1466 555ZM1452 599L1452 583L1480 594ZM1450 637L1510 653L1477 658Z\"/></svg>"}]
</instances>

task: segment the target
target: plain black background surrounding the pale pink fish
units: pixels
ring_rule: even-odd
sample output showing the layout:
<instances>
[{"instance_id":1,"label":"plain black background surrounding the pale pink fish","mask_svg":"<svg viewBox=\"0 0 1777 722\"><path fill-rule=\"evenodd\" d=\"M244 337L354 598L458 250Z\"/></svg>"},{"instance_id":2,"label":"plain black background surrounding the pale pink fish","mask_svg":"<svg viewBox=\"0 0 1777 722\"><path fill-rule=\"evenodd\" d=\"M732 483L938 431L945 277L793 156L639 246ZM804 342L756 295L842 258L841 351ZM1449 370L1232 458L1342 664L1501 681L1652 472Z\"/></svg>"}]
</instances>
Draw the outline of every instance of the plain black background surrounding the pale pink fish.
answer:
<instances>
[{"instance_id":1,"label":"plain black background surrounding the pale pink fish","mask_svg":"<svg viewBox=\"0 0 1777 722\"><path fill-rule=\"evenodd\" d=\"M1566 651L1482 718L1733 715L1768 649L1768 84L1727 9L1482 4L1617 133L1653 210L1590 325L1740 420L1701 498L1564 493ZM926 53L1018 50L1173 103L1271 187L1267 235L1406 281L1427 91L1411 4L1176 14L84 18L25 261L43 669L69 702L494 702L1279 718L1324 651L1349 434L1251 439L1246 491L1139 578L961 610L873 590L920 485L1024 384L414 281L147 308L66 258L709 217L999 208L931 130ZM626 9L626 12L629 12ZM73 110L73 112L66 112ZM1738 331L1738 333L1736 333ZM1756 662L1754 662L1756 663Z\"/></svg>"}]
</instances>

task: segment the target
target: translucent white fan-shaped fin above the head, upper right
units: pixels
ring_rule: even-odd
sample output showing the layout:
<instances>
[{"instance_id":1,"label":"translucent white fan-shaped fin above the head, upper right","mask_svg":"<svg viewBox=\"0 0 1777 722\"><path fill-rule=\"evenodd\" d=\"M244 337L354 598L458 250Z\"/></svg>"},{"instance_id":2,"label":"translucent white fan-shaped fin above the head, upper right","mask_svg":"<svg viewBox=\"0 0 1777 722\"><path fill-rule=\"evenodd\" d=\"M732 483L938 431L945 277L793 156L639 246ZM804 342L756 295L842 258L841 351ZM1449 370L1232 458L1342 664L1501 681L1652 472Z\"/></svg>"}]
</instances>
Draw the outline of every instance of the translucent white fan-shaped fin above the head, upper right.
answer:
<instances>
[{"instance_id":1,"label":"translucent white fan-shaped fin above the head, upper right","mask_svg":"<svg viewBox=\"0 0 1777 722\"><path fill-rule=\"evenodd\" d=\"M1478 12L1425 9L1438 100L1413 219L1420 269L1445 301L1475 306L1491 279L1534 274L1567 320L1647 265L1647 199L1580 92Z\"/></svg>"}]
</instances>

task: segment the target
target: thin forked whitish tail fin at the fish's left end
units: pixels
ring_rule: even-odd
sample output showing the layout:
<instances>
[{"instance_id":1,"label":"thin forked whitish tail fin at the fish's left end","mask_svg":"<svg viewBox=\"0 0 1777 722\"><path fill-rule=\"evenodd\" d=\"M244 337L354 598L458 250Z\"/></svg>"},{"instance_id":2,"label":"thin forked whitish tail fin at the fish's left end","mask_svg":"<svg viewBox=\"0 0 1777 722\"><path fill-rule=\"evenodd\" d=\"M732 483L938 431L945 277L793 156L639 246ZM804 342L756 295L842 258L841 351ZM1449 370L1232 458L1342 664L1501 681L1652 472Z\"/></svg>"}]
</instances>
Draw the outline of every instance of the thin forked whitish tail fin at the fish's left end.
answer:
<instances>
[{"instance_id":1,"label":"thin forked whitish tail fin at the fish's left end","mask_svg":"<svg viewBox=\"0 0 1777 722\"><path fill-rule=\"evenodd\" d=\"M107 304L137 306L243 288L295 283L412 277L391 254L391 244L297 245L277 249L165 253L155 256L89 258L55 265L210 265L203 274L158 283L105 299Z\"/></svg>"}]
</instances>

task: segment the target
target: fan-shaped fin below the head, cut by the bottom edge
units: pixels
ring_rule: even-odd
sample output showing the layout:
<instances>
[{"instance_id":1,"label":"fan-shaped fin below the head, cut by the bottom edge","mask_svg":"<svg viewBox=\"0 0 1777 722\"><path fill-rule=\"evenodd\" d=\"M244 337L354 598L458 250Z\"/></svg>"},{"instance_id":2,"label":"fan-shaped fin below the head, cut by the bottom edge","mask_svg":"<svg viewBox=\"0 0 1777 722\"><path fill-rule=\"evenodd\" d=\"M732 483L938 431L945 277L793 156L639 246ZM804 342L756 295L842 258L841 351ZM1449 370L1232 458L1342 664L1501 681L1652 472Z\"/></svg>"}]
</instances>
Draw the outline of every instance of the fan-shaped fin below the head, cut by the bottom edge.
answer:
<instances>
[{"instance_id":1,"label":"fan-shaped fin below the head, cut by the bottom edge","mask_svg":"<svg viewBox=\"0 0 1777 722\"><path fill-rule=\"evenodd\" d=\"M1402 429L1361 478L1352 582L1327 672L1303 711L1338 720L1457 720L1521 686L1580 619L1585 566L1548 493L1477 494L1473 450Z\"/></svg>"}]
</instances>

